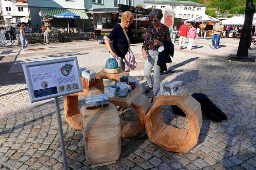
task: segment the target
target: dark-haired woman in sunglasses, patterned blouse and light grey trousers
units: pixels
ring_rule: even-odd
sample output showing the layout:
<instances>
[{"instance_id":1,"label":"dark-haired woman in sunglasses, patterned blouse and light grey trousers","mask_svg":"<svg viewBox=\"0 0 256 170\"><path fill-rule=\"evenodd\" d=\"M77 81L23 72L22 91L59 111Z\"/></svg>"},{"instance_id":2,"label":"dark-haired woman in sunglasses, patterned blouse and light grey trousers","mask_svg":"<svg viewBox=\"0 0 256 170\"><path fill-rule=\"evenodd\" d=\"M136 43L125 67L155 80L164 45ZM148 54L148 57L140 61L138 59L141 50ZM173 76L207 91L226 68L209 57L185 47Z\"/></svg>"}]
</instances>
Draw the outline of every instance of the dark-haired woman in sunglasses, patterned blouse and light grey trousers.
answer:
<instances>
[{"instance_id":1,"label":"dark-haired woman in sunglasses, patterned blouse and light grey trousers","mask_svg":"<svg viewBox=\"0 0 256 170\"><path fill-rule=\"evenodd\" d=\"M163 17L162 10L154 9L150 13L150 21L152 25L146 31L146 37L142 45L142 56L145 59L144 76L148 83L148 89L145 91L149 93L153 89L154 96L158 92L160 86L160 66L158 61L158 48L163 45L164 41L171 41L169 28L161 23ZM152 84L151 70L154 68L154 84Z\"/></svg>"}]
</instances>

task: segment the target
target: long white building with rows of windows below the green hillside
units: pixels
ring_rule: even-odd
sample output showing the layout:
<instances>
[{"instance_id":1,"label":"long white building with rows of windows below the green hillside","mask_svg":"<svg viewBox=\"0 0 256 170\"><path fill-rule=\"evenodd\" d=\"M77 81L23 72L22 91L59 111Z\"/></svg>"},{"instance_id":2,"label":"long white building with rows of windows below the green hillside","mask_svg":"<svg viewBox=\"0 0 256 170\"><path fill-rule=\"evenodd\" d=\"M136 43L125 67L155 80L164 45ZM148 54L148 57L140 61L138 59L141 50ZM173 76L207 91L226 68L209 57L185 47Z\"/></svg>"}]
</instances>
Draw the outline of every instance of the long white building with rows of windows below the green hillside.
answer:
<instances>
[{"instance_id":1,"label":"long white building with rows of windows below the green hillside","mask_svg":"<svg viewBox=\"0 0 256 170\"><path fill-rule=\"evenodd\" d=\"M144 8L171 8L175 10L175 18L187 20L205 14L206 5L191 1L177 0L144 0Z\"/></svg>"}]
</instances>

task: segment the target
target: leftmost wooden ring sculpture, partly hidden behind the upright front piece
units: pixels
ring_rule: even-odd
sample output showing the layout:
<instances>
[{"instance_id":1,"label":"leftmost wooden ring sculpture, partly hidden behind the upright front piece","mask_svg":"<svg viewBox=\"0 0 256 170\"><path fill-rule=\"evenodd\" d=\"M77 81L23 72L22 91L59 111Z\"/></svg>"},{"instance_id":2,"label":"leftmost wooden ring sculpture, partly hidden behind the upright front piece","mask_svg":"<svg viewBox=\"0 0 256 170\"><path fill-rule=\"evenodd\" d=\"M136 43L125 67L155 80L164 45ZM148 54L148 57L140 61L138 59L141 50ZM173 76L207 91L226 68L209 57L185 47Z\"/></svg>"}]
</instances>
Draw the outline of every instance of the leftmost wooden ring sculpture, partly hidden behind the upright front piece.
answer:
<instances>
[{"instance_id":1,"label":"leftmost wooden ring sculpture, partly hidden behind the upright front piece","mask_svg":"<svg viewBox=\"0 0 256 170\"><path fill-rule=\"evenodd\" d=\"M97 94L102 94L102 92L92 87L90 90L84 89L83 92L64 96L63 105L64 105L65 119L72 128L82 130L81 117L80 117L80 112L78 110L78 96L86 97L86 96L92 96Z\"/></svg>"}]
</instances>

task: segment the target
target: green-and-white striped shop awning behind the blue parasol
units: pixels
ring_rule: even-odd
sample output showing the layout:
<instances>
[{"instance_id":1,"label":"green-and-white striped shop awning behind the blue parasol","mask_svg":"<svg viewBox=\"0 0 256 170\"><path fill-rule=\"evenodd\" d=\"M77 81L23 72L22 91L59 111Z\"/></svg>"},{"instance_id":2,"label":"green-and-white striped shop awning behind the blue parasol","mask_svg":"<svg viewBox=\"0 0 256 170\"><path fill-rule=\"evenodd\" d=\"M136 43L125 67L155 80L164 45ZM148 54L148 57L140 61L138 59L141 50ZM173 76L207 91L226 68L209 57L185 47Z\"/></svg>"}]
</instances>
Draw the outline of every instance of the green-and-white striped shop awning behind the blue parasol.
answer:
<instances>
[{"instance_id":1,"label":"green-and-white striped shop awning behind the blue parasol","mask_svg":"<svg viewBox=\"0 0 256 170\"><path fill-rule=\"evenodd\" d=\"M57 14L61 14L64 12L70 12L72 14L76 14L77 16L80 16L81 19L89 19L88 14L85 12L85 10L60 10L60 9L46 9L46 8L42 8L40 10L44 14L50 14L52 16L56 16Z\"/></svg>"}]
</instances>

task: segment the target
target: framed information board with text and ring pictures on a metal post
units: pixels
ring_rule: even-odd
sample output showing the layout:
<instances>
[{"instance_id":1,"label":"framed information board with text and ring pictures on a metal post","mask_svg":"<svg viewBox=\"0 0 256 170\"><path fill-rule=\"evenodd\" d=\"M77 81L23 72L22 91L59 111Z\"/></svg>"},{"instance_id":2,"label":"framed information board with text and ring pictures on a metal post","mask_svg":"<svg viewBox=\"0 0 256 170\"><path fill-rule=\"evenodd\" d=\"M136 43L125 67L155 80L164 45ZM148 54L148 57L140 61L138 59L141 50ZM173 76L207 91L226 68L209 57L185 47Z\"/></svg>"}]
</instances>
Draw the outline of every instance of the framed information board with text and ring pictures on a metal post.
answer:
<instances>
[{"instance_id":1,"label":"framed information board with text and ring pictures on a metal post","mask_svg":"<svg viewBox=\"0 0 256 170\"><path fill-rule=\"evenodd\" d=\"M22 64L30 101L82 92L76 57Z\"/></svg>"}]
</instances>

